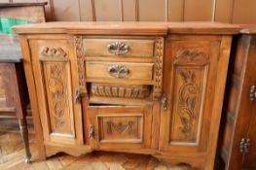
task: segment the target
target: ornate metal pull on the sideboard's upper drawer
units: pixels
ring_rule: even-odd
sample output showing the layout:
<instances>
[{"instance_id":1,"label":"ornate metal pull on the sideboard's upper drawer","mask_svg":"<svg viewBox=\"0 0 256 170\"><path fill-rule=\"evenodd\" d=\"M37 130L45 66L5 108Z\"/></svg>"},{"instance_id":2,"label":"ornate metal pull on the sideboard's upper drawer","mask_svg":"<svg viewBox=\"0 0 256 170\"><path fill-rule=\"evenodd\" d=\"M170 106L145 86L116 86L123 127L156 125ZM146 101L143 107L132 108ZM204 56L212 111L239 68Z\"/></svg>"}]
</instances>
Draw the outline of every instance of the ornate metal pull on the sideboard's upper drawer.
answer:
<instances>
[{"instance_id":1,"label":"ornate metal pull on the sideboard's upper drawer","mask_svg":"<svg viewBox=\"0 0 256 170\"><path fill-rule=\"evenodd\" d=\"M128 45L122 42L115 42L108 45L108 51L116 55L126 54L129 51Z\"/></svg>"}]
</instances>

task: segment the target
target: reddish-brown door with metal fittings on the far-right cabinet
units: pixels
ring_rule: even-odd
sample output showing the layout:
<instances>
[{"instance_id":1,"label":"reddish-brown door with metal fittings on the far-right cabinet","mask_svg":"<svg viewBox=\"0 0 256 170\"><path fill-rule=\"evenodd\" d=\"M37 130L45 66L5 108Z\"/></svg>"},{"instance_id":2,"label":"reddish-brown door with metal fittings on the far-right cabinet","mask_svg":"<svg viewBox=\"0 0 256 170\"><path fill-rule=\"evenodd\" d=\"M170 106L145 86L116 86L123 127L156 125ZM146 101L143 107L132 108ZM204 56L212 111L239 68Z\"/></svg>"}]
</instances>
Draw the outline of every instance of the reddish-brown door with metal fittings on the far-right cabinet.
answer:
<instances>
[{"instance_id":1,"label":"reddish-brown door with metal fittings on the far-right cabinet","mask_svg":"<svg viewBox=\"0 0 256 170\"><path fill-rule=\"evenodd\" d=\"M242 40L242 43L246 43L249 48L245 52L247 56L240 56L245 58L244 60L246 61L243 63L243 65L246 68L244 68L244 80L243 85L241 86L241 98L238 110L239 115L237 117L233 149L240 144L241 138L249 139L250 142L248 146L248 153L239 153L242 154L242 158L240 158L242 160L241 167L244 169L256 169L256 97L255 90L253 90L253 85L256 85L256 35L243 35ZM250 98L248 96L250 96ZM244 129L246 130L246 132L244 132ZM245 135L245 133L247 134ZM234 168L232 166L232 160L238 160L238 153L234 151L232 152L233 153L230 160L230 169Z\"/></svg>"}]
</instances>

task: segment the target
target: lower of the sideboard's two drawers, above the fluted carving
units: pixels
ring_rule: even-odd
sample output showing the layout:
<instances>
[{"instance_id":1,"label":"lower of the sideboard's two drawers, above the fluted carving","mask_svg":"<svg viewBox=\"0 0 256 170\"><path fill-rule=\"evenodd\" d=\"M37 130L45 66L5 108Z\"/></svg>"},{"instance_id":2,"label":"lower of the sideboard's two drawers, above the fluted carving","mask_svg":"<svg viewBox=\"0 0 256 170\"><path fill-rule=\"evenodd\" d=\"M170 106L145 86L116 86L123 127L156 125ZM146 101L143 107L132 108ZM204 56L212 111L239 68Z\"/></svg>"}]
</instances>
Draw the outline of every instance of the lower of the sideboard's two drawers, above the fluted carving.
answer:
<instances>
[{"instance_id":1,"label":"lower of the sideboard's two drawers, above the fluted carving","mask_svg":"<svg viewBox=\"0 0 256 170\"><path fill-rule=\"evenodd\" d=\"M153 63L86 62L88 79L151 81Z\"/></svg>"}]
</instances>

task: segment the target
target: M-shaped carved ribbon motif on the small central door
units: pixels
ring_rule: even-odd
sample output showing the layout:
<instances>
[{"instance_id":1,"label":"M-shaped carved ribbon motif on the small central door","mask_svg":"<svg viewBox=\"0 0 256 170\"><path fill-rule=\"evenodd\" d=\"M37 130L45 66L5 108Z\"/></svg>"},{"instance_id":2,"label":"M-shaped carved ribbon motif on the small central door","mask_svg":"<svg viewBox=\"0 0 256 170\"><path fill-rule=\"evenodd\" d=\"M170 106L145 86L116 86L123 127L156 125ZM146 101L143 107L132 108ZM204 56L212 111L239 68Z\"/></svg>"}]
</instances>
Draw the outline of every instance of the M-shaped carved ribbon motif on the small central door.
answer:
<instances>
[{"instance_id":1,"label":"M-shaped carved ribbon motif on the small central door","mask_svg":"<svg viewBox=\"0 0 256 170\"><path fill-rule=\"evenodd\" d=\"M128 121L128 124L123 124L122 122L114 123L113 121L107 121L107 132L108 134L112 134L114 129L119 133L123 133L126 129L128 129L128 134L133 133L133 121Z\"/></svg>"}]
</instances>

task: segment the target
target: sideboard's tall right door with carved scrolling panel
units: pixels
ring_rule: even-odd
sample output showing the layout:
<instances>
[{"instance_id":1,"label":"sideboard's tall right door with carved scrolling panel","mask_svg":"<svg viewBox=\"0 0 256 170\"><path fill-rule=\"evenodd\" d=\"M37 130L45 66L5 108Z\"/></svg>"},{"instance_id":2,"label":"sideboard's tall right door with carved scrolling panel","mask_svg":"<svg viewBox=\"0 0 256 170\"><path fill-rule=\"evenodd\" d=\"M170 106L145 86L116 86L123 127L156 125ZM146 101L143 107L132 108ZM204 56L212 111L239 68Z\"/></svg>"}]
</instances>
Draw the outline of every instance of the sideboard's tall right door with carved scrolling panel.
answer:
<instances>
[{"instance_id":1,"label":"sideboard's tall right door with carved scrolling panel","mask_svg":"<svg viewBox=\"0 0 256 170\"><path fill-rule=\"evenodd\" d=\"M217 36L167 38L164 71L167 107L161 113L162 152L187 155L206 152L210 123L214 123L211 116L220 41Z\"/></svg>"}]
</instances>

